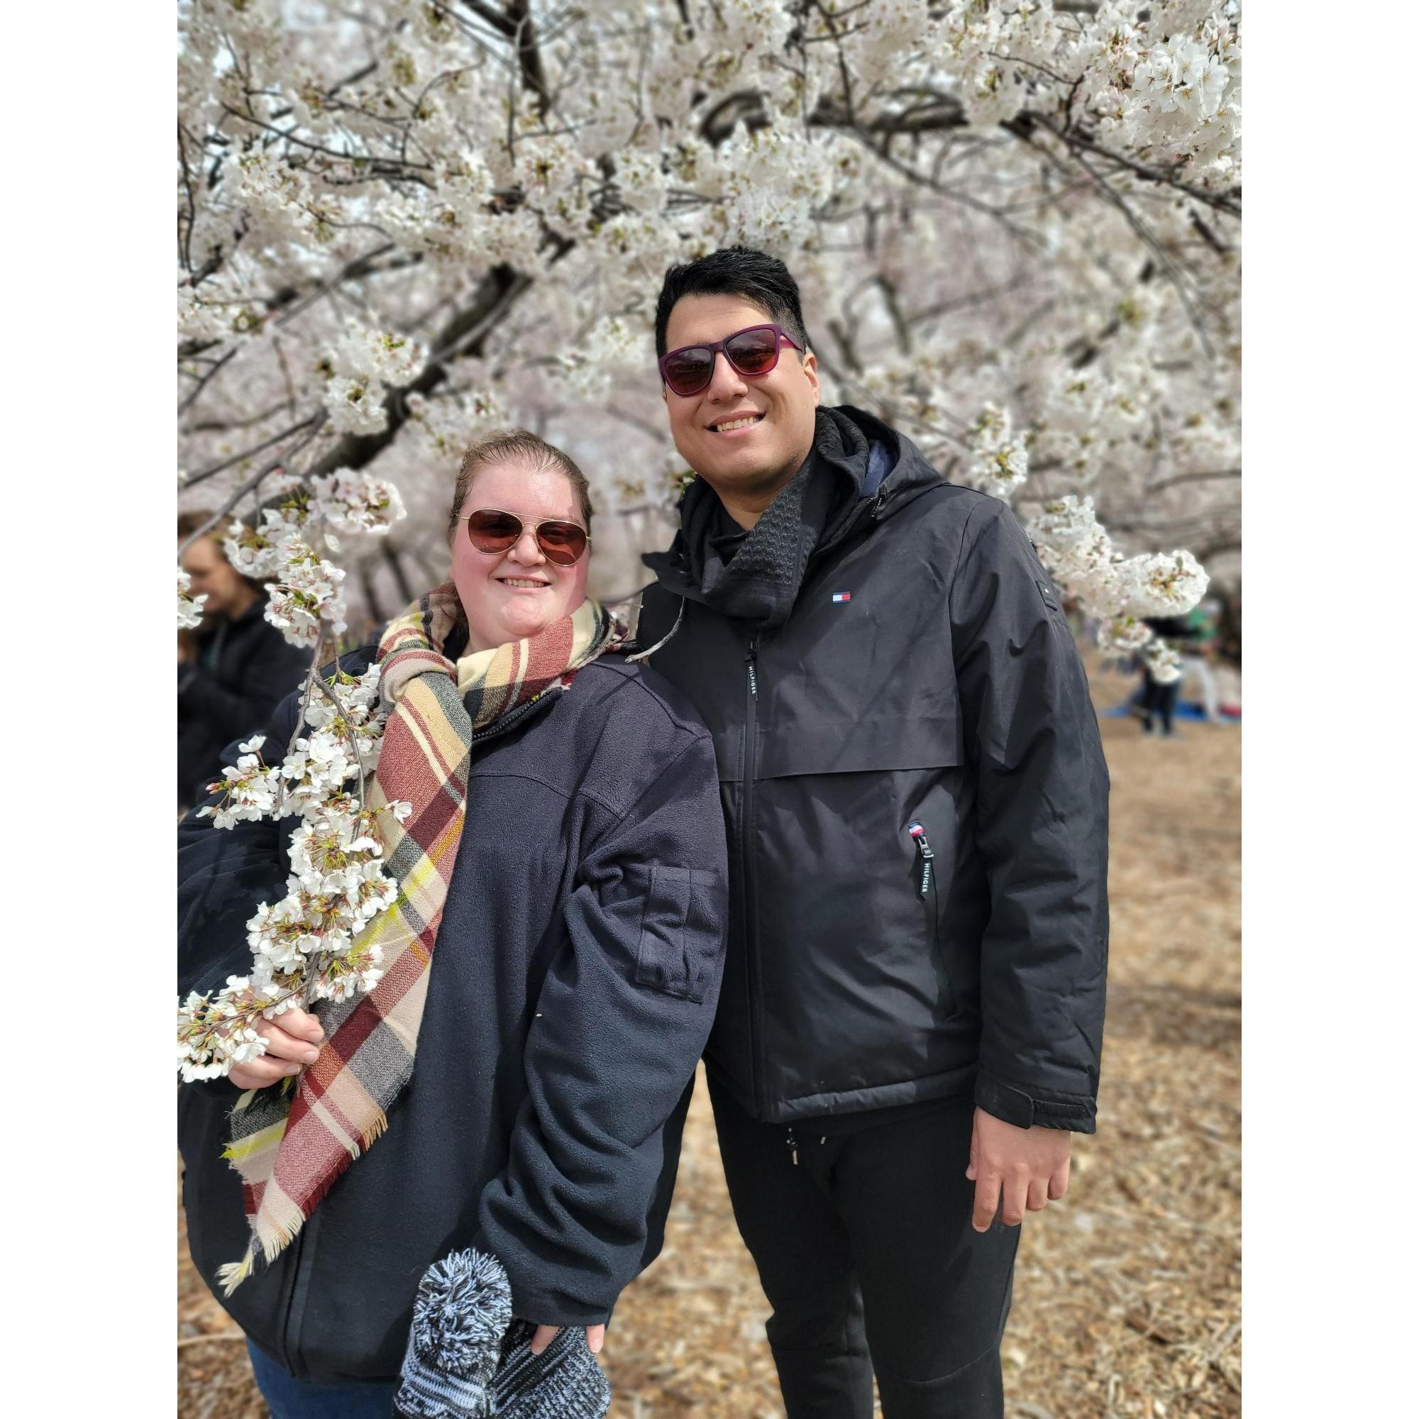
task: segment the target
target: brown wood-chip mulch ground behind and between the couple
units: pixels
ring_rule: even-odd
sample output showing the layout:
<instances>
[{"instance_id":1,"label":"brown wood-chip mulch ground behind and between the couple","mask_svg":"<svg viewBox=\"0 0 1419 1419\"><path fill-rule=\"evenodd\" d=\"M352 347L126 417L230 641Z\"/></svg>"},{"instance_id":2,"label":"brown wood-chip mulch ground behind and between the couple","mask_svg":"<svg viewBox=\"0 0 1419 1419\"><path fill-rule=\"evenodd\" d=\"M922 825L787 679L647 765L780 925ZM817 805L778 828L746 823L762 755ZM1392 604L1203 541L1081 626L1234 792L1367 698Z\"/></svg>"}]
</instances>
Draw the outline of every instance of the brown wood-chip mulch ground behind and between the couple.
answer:
<instances>
[{"instance_id":1,"label":"brown wood-chip mulch ground behind and between the couple","mask_svg":"<svg viewBox=\"0 0 1419 1419\"><path fill-rule=\"evenodd\" d=\"M1100 705L1130 685L1097 683ZM1240 1413L1240 729L1104 719L1112 954L1100 1127L1025 1223L1009 1419ZM263 1419L244 1347L187 1260L179 1416ZM776 1419L768 1310L734 1227L701 1078L666 1249L603 1361L614 1419Z\"/></svg>"}]
</instances>

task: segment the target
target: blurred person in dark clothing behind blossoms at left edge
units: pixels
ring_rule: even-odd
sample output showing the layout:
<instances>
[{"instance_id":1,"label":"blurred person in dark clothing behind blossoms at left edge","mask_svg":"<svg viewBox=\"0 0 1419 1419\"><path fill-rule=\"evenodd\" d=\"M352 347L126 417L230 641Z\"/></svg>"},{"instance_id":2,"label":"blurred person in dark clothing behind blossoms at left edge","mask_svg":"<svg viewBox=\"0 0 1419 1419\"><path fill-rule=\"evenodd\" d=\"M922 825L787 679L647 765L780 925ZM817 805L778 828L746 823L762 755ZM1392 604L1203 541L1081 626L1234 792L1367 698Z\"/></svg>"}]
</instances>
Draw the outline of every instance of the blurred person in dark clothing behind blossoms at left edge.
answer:
<instances>
[{"instance_id":1,"label":"blurred person in dark clothing behind blossoms at left edge","mask_svg":"<svg viewBox=\"0 0 1419 1419\"><path fill-rule=\"evenodd\" d=\"M182 546L210 514L177 517ZM206 596L204 619L177 633L177 807L206 797L221 746L244 739L271 717L311 664L265 619L265 593L226 558L216 536L197 538L183 553L190 595Z\"/></svg>"}]
</instances>

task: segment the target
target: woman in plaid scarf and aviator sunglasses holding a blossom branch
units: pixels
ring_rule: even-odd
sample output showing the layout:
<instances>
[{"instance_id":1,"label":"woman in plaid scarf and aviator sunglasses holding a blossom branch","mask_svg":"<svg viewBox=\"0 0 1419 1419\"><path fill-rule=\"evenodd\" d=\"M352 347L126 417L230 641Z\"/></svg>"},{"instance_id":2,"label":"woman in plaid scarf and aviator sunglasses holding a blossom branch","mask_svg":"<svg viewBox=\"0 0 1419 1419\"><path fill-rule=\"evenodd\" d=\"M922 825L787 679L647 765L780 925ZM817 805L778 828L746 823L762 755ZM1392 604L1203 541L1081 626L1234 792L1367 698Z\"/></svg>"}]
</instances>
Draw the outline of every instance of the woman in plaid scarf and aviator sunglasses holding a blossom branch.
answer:
<instances>
[{"instance_id":1,"label":"woman in plaid scarf and aviator sunglasses holding a blossom branch","mask_svg":"<svg viewBox=\"0 0 1419 1419\"><path fill-rule=\"evenodd\" d=\"M383 1049L350 1037L355 1015L326 1039L314 1016L289 1010L261 1026L263 1057L180 1090L199 1271L214 1284L248 1252L253 1229L274 1252L220 1298L248 1335L275 1419L389 1415L419 1279L450 1250L502 1263L514 1314L539 1327L534 1351L553 1327L586 1327L597 1349L619 1291L660 1250L719 986L724 827L708 732L654 671L613 653L614 623L586 597L589 526L586 480L570 458L526 433L484 440L458 473L451 583L390 623L379 650L343 657L356 674L383 657L394 710L382 780L399 758L402 707L417 701L427 717L434 700L419 695L433 690L453 704L450 721L467 711L465 817L444 857L454 856L451 871L440 870L433 946L414 954L427 968L421 1016L385 1029ZM522 678L492 684L490 666L508 664ZM289 741L297 704L278 707L270 742ZM460 766L443 772L412 827L460 796ZM284 893L291 823L182 824L184 992L250 964L244 922ZM389 854L396 877L403 856ZM400 885L406 902L423 900ZM386 959L376 995L393 975ZM404 1050L414 1056L407 1083L385 1057L407 1066ZM265 1174L294 1193L284 1179L304 1169L309 1203L263 1232L282 1189L250 1162L260 1130L243 1135L234 1122L284 1108L272 1086L294 1076L289 1130L274 1131L282 1152ZM380 1098L392 1078L387 1130L366 1130L348 1165L312 1164L298 1114L302 1127L342 1117L352 1094ZM233 1114L243 1090L257 1103ZM234 1138L228 1166L221 1154ZM251 1226L244 1193L260 1199Z\"/></svg>"}]
</instances>

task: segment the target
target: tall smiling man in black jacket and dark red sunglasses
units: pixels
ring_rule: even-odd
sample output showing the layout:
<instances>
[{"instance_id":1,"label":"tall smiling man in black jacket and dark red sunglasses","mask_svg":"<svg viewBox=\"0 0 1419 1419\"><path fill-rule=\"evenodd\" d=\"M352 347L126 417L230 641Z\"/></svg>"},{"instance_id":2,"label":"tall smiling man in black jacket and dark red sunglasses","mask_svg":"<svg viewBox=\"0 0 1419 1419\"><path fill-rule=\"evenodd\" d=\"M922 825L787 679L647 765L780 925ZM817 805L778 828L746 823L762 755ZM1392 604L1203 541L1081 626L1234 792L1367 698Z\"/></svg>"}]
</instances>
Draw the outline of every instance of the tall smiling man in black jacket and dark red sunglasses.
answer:
<instances>
[{"instance_id":1,"label":"tall smiling man in black jacket and dark red sunglasses","mask_svg":"<svg viewBox=\"0 0 1419 1419\"><path fill-rule=\"evenodd\" d=\"M714 741L731 927L705 1053L790 1419L1000 1416L1017 1226L1091 1132L1108 776L1005 504L819 407L799 292L729 248L656 312L695 470L640 640ZM668 353L667 353L668 352ZM999 1216L999 1222L995 1219Z\"/></svg>"}]
</instances>

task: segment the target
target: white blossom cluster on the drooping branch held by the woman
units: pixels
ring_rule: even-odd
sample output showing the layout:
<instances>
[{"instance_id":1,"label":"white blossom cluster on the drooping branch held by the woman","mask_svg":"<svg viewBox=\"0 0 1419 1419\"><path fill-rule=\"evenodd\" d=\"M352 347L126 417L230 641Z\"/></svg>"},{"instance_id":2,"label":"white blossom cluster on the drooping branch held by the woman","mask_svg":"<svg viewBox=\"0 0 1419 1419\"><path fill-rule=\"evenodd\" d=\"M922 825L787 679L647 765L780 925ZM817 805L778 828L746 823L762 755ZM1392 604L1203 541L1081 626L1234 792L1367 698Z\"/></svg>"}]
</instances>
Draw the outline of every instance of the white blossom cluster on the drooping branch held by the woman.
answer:
<instances>
[{"instance_id":1,"label":"white blossom cluster on the drooping branch held by the woman","mask_svg":"<svg viewBox=\"0 0 1419 1419\"><path fill-rule=\"evenodd\" d=\"M263 735L241 744L237 762L211 785L216 802L197 810L214 827L297 816L287 856L287 893L263 901L247 921L251 972L228 976L177 1007L183 1078L216 1078L265 1053L260 1019L316 1000L345 1000L377 985L383 959L366 928L399 891L385 867L380 815L360 785L379 762L385 717L379 666L352 675L339 667L308 687L307 734L281 763L267 763ZM352 790L353 786L353 790ZM410 805L385 812L403 822Z\"/></svg>"}]
</instances>

